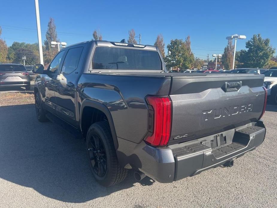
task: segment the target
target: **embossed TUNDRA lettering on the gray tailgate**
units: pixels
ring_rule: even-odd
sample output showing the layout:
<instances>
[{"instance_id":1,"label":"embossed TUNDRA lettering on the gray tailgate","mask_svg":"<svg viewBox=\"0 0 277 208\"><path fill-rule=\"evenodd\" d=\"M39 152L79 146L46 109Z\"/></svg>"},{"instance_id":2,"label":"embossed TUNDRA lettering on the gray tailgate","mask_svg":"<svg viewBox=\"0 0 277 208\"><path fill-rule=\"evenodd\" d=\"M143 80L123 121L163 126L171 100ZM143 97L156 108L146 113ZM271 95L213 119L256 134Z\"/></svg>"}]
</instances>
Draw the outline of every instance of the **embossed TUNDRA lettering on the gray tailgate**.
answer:
<instances>
[{"instance_id":1,"label":"embossed TUNDRA lettering on the gray tailgate","mask_svg":"<svg viewBox=\"0 0 277 208\"><path fill-rule=\"evenodd\" d=\"M234 105L228 108L212 109L202 111L202 120L207 121L211 119L224 118L227 116L234 116L240 113L252 111L253 104Z\"/></svg>"}]
</instances>

